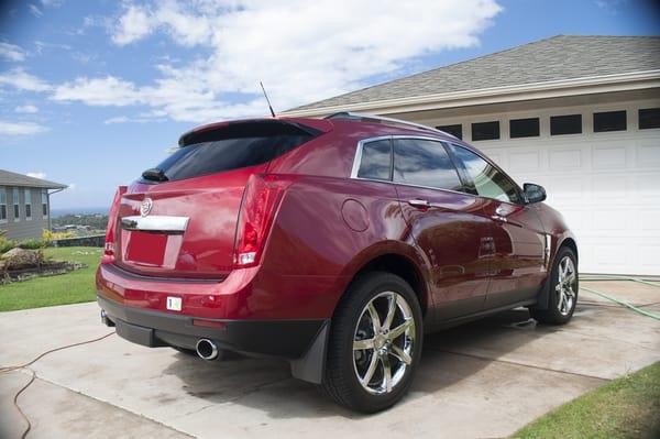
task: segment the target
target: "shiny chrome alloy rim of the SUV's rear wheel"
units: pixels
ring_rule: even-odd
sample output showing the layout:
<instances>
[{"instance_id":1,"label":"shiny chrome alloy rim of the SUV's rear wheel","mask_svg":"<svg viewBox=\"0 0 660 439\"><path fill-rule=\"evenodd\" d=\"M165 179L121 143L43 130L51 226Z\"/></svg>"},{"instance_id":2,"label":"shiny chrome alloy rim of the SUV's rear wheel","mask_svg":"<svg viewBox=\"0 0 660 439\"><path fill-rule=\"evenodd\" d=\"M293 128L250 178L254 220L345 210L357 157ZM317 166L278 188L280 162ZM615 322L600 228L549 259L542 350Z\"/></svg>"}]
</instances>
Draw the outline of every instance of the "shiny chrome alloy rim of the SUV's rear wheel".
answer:
<instances>
[{"instance_id":1,"label":"shiny chrome alloy rim of the SUV's rear wheel","mask_svg":"<svg viewBox=\"0 0 660 439\"><path fill-rule=\"evenodd\" d=\"M364 307L353 336L353 367L373 395L392 392L413 363L415 318L406 299L394 292L375 296Z\"/></svg>"}]
</instances>

